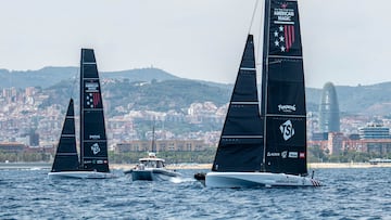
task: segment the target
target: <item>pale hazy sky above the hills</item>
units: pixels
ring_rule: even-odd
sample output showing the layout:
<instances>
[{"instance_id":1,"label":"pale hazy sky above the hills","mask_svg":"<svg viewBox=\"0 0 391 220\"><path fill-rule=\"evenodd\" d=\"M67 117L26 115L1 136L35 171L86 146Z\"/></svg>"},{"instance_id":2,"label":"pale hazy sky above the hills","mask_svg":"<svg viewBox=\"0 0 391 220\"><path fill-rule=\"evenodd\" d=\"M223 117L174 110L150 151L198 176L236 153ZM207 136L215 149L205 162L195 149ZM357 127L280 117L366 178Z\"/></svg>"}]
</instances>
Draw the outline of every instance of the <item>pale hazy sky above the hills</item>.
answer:
<instances>
[{"instance_id":1,"label":"pale hazy sky above the hills","mask_svg":"<svg viewBox=\"0 0 391 220\"><path fill-rule=\"evenodd\" d=\"M80 48L93 48L100 70L154 66L232 83L255 0L0 0L0 68L78 66ZM391 81L391 1L299 0L299 7L307 87ZM252 34L260 33L262 10L260 0Z\"/></svg>"}]
</instances>

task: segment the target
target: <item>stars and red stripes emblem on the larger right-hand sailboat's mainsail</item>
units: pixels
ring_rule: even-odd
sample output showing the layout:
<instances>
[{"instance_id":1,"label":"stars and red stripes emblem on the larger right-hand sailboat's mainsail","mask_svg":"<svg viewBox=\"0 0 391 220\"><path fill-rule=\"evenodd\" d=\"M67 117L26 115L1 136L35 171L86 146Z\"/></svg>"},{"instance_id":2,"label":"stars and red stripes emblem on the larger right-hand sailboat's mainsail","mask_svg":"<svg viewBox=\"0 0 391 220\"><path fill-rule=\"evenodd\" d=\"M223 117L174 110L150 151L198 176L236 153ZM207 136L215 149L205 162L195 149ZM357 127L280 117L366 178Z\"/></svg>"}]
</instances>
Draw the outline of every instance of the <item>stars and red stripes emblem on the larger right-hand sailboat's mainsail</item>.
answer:
<instances>
[{"instance_id":1,"label":"stars and red stripes emblem on the larger right-hand sailboat's mainsail","mask_svg":"<svg viewBox=\"0 0 391 220\"><path fill-rule=\"evenodd\" d=\"M280 49L280 52L289 52L294 42L294 26L279 25L273 33L274 46Z\"/></svg>"}]
</instances>

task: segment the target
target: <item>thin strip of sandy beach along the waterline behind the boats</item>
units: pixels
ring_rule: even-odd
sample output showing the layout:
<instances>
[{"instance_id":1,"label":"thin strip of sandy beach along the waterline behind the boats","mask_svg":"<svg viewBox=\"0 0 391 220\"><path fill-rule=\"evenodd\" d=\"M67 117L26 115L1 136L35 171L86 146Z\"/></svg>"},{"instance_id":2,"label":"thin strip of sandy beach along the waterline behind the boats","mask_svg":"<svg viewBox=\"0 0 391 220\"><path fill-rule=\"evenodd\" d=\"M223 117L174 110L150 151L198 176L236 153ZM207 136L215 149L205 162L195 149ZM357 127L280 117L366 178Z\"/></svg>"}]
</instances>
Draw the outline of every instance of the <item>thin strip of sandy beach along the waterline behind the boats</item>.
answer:
<instances>
[{"instance_id":1,"label":"thin strip of sandy beach along the waterline behind the boats","mask_svg":"<svg viewBox=\"0 0 391 220\"><path fill-rule=\"evenodd\" d=\"M51 163L0 163L1 169L50 169ZM111 164L110 169L128 170L136 164ZM206 169L210 170L212 164L177 164L167 165L167 169ZM379 163L371 165L369 163L310 163L308 169L338 169L338 168L379 168L391 167L391 163Z\"/></svg>"}]
</instances>

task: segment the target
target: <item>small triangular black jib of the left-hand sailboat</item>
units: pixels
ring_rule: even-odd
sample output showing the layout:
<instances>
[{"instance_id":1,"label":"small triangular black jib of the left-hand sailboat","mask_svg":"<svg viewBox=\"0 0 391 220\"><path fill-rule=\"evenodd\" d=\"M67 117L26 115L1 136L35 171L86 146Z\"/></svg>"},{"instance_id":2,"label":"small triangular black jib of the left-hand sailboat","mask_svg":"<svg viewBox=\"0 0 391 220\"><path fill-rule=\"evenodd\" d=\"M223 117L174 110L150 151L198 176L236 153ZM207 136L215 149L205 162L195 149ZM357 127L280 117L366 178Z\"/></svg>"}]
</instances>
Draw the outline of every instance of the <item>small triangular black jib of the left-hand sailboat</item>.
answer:
<instances>
[{"instance_id":1,"label":"small triangular black jib of the left-hand sailboat","mask_svg":"<svg viewBox=\"0 0 391 220\"><path fill-rule=\"evenodd\" d=\"M78 168L79 161L76 151L74 101L71 99L51 171L75 171L78 170Z\"/></svg>"}]
</instances>

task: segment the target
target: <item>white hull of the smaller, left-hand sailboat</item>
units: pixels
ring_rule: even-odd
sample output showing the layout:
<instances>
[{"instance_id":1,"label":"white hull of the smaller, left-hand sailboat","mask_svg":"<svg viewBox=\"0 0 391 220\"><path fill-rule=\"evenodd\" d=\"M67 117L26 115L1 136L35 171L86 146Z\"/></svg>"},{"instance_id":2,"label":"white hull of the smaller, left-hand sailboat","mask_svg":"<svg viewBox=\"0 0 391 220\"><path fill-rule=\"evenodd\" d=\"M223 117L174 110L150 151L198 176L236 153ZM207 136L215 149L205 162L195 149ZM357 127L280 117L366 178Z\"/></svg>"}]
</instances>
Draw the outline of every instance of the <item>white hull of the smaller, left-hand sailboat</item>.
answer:
<instances>
[{"instance_id":1,"label":"white hull of the smaller, left-hand sailboat","mask_svg":"<svg viewBox=\"0 0 391 220\"><path fill-rule=\"evenodd\" d=\"M110 179L115 176L111 172L97 172L97 171L62 171L49 172L49 179Z\"/></svg>"}]
</instances>

